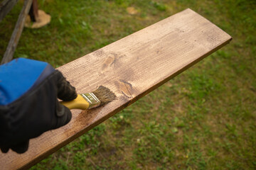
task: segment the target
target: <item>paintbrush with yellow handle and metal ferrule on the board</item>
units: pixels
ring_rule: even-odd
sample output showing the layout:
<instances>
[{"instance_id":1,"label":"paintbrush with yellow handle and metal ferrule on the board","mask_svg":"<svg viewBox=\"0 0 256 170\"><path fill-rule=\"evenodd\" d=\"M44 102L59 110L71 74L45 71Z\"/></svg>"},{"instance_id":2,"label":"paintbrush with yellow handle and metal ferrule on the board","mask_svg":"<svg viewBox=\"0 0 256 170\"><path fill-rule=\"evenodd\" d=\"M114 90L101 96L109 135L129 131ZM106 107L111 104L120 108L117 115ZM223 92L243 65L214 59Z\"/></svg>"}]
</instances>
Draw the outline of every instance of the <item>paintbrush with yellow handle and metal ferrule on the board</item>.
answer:
<instances>
[{"instance_id":1,"label":"paintbrush with yellow handle and metal ferrule on the board","mask_svg":"<svg viewBox=\"0 0 256 170\"><path fill-rule=\"evenodd\" d=\"M102 106L117 98L115 94L105 86L100 86L97 90L87 94L78 94L73 101L60 101L69 109L90 109Z\"/></svg>"}]
</instances>

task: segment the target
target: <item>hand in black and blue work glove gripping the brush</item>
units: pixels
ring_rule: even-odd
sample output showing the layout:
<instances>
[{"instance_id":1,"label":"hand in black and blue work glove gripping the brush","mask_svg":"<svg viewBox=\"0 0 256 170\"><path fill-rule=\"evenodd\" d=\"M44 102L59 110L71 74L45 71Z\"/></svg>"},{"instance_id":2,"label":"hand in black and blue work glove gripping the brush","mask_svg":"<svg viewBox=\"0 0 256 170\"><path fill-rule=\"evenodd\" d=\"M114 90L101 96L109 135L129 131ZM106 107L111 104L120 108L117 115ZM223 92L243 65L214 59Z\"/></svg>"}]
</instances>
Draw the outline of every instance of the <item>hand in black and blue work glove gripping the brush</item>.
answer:
<instances>
[{"instance_id":1,"label":"hand in black and blue work glove gripping the brush","mask_svg":"<svg viewBox=\"0 0 256 170\"><path fill-rule=\"evenodd\" d=\"M57 98L76 97L75 88L46 62L19 58L0 65L1 151L21 154L31 138L66 125L72 115Z\"/></svg>"}]
</instances>

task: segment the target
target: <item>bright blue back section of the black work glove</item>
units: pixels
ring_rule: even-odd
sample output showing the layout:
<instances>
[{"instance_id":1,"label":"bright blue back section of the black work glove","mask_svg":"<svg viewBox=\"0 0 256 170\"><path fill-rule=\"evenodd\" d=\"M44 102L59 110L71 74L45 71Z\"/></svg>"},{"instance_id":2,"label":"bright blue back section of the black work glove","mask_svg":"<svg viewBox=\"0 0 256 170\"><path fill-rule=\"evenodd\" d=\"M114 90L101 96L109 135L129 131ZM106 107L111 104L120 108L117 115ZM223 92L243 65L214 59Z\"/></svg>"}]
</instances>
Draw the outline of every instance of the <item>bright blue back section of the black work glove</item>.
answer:
<instances>
[{"instance_id":1,"label":"bright blue back section of the black work glove","mask_svg":"<svg viewBox=\"0 0 256 170\"><path fill-rule=\"evenodd\" d=\"M24 58L0 65L0 106L16 101L54 70L47 62Z\"/></svg>"}]
</instances>

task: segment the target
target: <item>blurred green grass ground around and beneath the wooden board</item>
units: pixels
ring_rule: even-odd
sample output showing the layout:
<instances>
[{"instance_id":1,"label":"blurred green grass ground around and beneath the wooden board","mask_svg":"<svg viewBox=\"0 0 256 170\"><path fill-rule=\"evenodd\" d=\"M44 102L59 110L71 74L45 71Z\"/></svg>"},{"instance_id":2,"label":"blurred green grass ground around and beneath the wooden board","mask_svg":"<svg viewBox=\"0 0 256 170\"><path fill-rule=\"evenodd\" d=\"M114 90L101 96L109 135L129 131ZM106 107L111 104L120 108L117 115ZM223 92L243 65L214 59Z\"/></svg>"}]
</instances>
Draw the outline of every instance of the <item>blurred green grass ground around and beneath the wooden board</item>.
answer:
<instances>
[{"instance_id":1,"label":"blurred green grass ground around and beneath the wooden board","mask_svg":"<svg viewBox=\"0 0 256 170\"><path fill-rule=\"evenodd\" d=\"M14 57L59 67L186 8L230 44L31 169L256 169L256 1L38 0ZM22 3L0 23L0 56Z\"/></svg>"}]
</instances>

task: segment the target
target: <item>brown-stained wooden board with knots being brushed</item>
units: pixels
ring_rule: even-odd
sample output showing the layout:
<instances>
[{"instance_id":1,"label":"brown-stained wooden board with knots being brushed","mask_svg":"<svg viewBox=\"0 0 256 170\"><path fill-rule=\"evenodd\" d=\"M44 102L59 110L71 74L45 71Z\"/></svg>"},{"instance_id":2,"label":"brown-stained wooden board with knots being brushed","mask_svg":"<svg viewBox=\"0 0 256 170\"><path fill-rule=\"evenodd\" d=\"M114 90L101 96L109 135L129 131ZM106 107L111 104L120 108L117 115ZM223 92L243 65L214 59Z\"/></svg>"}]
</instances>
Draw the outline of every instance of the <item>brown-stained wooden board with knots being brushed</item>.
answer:
<instances>
[{"instance_id":1,"label":"brown-stained wooden board with knots being brushed","mask_svg":"<svg viewBox=\"0 0 256 170\"><path fill-rule=\"evenodd\" d=\"M74 110L68 125L31 140L25 154L0 154L1 168L26 169L36 164L231 39L206 18L186 9L59 67L78 93L104 85L118 100L91 111Z\"/></svg>"}]
</instances>

